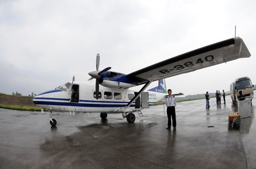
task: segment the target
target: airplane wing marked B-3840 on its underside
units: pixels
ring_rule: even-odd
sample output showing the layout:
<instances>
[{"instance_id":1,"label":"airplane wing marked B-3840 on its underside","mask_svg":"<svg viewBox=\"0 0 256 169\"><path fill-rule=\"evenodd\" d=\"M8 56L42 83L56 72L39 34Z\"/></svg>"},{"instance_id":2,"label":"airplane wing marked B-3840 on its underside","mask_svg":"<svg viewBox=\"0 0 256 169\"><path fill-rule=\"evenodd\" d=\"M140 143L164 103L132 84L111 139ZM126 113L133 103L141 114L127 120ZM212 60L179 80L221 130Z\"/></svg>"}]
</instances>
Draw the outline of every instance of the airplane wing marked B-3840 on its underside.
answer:
<instances>
[{"instance_id":1,"label":"airplane wing marked B-3840 on its underside","mask_svg":"<svg viewBox=\"0 0 256 169\"><path fill-rule=\"evenodd\" d=\"M127 74L144 80L160 80L198 69L226 63L239 58L249 58L250 52L243 40L239 37L231 38L211 44L181 55L145 67Z\"/></svg>"}]
</instances>

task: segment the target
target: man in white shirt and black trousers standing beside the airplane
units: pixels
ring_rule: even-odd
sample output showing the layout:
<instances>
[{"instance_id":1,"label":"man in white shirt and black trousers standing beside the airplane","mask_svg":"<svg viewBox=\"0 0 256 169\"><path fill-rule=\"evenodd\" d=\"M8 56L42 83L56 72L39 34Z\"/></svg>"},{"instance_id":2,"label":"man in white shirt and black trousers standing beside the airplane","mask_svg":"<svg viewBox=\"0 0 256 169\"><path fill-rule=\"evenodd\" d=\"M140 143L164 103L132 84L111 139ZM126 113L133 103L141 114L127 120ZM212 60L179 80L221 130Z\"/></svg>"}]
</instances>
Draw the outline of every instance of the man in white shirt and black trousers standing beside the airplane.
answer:
<instances>
[{"instance_id":1,"label":"man in white shirt and black trousers standing beside the airplane","mask_svg":"<svg viewBox=\"0 0 256 169\"><path fill-rule=\"evenodd\" d=\"M172 90L170 89L168 89L168 97L165 99L165 105L167 106L167 117L168 117L168 127L166 129L169 129L170 126L172 126L172 121L170 120L170 117L172 117L173 127L175 130L176 129L176 113L175 113L176 98L172 96Z\"/></svg>"}]
</instances>

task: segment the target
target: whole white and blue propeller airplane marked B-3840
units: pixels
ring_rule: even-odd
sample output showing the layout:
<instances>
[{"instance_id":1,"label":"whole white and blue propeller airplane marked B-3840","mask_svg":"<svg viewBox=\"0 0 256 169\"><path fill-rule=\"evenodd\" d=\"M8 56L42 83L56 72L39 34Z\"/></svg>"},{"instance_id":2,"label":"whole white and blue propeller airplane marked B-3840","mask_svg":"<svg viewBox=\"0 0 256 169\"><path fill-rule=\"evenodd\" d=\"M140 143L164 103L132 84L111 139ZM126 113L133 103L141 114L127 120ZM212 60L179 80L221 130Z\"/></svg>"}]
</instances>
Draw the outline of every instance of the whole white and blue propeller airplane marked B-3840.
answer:
<instances>
[{"instance_id":1,"label":"whole white and blue propeller airplane marked B-3840","mask_svg":"<svg viewBox=\"0 0 256 169\"><path fill-rule=\"evenodd\" d=\"M99 69L100 56L96 57L96 71L90 72L95 78L96 85L73 80L56 88L37 95L33 102L50 111L50 124L57 124L52 119L52 111L73 112L100 112L100 117L105 119L108 114L122 114L127 122L133 123L138 112L149 105L164 101L167 96L164 78L192 72L198 69L226 63L228 61L249 58L250 52L243 40L239 37L227 39L211 44L165 61L137 70L130 74L109 71L111 67L102 71ZM153 82L159 85L144 92ZM100 85L100 86L99 86ZM132 87L143 85L139 91ZM182 95L182 93L177 94Z\"/></svg>"}]
</instances>

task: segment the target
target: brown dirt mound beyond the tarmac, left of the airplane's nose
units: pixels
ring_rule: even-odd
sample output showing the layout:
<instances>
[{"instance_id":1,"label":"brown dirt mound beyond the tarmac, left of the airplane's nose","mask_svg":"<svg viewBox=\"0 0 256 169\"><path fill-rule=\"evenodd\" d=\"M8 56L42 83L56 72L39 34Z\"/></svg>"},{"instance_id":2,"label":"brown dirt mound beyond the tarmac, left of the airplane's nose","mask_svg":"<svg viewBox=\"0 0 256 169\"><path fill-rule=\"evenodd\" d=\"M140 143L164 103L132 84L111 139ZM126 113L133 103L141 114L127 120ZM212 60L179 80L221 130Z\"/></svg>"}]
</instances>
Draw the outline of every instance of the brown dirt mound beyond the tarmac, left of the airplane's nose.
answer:
<instances>
[{"instance_id":1,"label":"brown dirt mound beyond the tarmac, left of the airplane's nose","mask_svg":"<svg viewBox=\"0 0 256 169\"><path fill-rule=\"evenodd\" d=\"M0 95L0 104L4 105L19 105L19 106L33 106L33 98L12 96L12 95Z\"/></svg>"}]
</instances>

